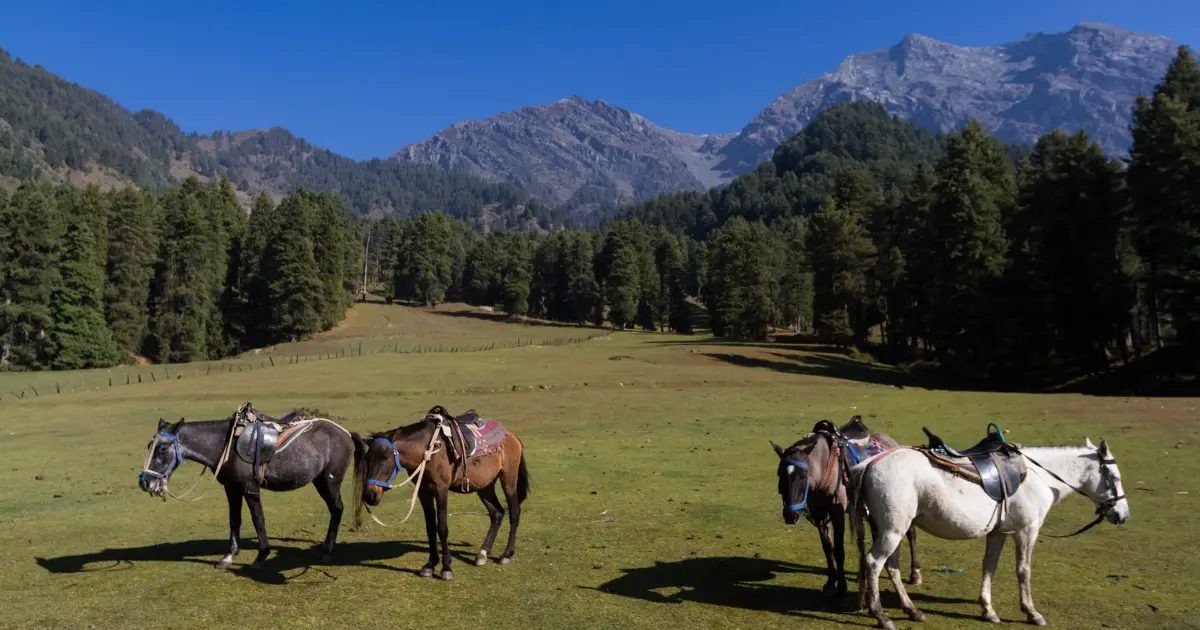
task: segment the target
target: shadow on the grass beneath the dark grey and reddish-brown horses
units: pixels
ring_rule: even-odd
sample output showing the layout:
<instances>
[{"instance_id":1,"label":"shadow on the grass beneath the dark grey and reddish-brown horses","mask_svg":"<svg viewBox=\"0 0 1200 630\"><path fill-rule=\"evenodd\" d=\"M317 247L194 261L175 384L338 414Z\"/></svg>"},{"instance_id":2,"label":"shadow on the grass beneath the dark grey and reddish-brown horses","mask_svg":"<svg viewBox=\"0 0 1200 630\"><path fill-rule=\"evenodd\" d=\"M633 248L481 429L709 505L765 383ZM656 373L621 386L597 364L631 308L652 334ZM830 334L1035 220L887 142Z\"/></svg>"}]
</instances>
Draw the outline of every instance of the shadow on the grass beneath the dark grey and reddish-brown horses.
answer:
<instances>
[{"instance_id":1,"label":"shadow on the grass beneath the dark grey and reddish-brown horses","mask_svg":"<svg viewBox=\"0 0 1200 630\"><path fill-rule=\"evenodd\" d=\"M284 545L281 545L284 542ZM228 551L228 540L188 540L184 542L161 542L142 547L106 548L78 556L58 558L35 558L37 564L52 574L108 572L132 569L139 562L176 562L212 566ZM466 542L451 544L452 547L467 547ZM337 576L325 570L329 566L367 566L396 572L418 575L416 569L406 569L383 564L408 553L428 553L425 541L371 541L338 542L332 556L323 562L320 544L305 539L271 539L271 556L258 569L251 569L258 553L257 548L244 548L238 559L241 563L229 569L238 576L263 584L332 582ZM469 553L454 552L463 562L474 562ZM293 571L298 571L293 574ZM310 572L316 574L308 577ZM290 575L289 575L290 574ZM324 577L322 577L324 576ZM304 580L301 580L304 578Z\"/></svg>"}]
</instances>

